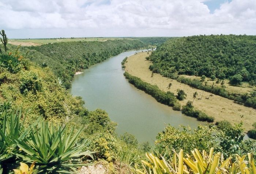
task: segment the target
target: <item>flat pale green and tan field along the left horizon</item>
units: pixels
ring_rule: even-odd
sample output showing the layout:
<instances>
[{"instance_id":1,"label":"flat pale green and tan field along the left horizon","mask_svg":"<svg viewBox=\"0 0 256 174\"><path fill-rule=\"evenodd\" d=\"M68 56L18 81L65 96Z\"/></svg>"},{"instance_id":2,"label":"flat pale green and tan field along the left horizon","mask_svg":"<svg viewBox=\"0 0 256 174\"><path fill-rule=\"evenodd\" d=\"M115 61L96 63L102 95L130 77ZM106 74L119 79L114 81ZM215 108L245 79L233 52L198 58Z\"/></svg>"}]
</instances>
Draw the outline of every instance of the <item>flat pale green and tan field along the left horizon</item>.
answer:
<instances>
[{"instance_id":1,"label":"flat pale green and tan field along the left horizon","mask_svg":"<svg viewBox=\"0 0 256 174\"><path fill-rule=\"evenodd\" d=\"M114 37L81 37L81 38L63 38L63 39L9 39L9 43L13 45L22 46L39 46L42 44L57 43L57 42L70 42L70 41L107 41L125 38L114 38Z\"/></svg>"}]
</instances>

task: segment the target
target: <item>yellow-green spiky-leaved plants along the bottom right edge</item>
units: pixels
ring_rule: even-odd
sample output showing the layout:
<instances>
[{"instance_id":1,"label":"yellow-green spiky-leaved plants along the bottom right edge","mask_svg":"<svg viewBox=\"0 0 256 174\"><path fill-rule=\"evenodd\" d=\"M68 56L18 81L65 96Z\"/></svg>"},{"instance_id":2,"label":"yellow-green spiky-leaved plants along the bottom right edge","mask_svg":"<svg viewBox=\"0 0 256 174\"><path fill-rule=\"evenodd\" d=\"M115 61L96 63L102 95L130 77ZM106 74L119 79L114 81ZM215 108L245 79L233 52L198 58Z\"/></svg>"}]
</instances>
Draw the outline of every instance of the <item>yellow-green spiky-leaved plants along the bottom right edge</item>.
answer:
<instances>
[{"instance_id":1,"label":"yellow-green spiky-leaved plants along the bottom right edge","mask_svg":"<svg viewBox=\"0 0 256 174\"><path fill-rule=\"evenodd\" d=\"M186 154L183 157L183 150L178 154L174 151L173 157L166 161L153 154L146 153L147 161L142 160L143 169L136 169L137 174L256 174L253 155L248 153L249 161L245 161L246 155L240 157L237 155L236 161L232 162L231 158L224 160L223 154L220 152L213 153L211 148L209 155L206 151L200 153L197 149L192 151L192 156Z\"/></svg>"}]
</instances>

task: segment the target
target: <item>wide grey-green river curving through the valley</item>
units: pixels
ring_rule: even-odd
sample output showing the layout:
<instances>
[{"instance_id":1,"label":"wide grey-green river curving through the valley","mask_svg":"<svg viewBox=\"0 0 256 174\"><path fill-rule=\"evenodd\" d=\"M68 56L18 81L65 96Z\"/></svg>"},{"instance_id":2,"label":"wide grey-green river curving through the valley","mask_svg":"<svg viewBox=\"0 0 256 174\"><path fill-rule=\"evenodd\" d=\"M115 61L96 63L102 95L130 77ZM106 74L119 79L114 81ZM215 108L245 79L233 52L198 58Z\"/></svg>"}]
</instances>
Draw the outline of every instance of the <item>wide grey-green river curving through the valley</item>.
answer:
<instances>
[{"instance_id":1,"label":"wide grey-green river curving through the valley","mask_svg":"<svg viewBox=\"0 0 256 174\"><path fill-rule=\"evenodd\" d=\"M74 77L69 92L82 96L91 111L97 108L106 110L110 119L118 123L116 131L119 135L128 132L139 142L152 143L166 124L193 128L205 124L180 111L173 111L128 83L121 62L126 56L139 51L123 52L84 70L83 74Z\"/></svg>"}]
</instances>

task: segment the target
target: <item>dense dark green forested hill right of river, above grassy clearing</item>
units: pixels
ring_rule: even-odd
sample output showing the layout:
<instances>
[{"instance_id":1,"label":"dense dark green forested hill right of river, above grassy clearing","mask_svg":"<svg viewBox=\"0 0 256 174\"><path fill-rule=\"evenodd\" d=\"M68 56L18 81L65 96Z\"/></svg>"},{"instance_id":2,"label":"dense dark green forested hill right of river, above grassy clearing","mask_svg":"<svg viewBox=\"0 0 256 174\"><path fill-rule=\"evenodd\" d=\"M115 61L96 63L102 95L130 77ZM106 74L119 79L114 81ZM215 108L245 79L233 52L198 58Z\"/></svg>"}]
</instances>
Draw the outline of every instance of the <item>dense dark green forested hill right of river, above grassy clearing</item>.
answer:
<instances>
[{"instance_id":1,"label":"dense dark green forested hill right of river, above grassy clearing","mask_svg":"<svg viewBox=\"0 0 256 174\"><path fill-rule=\"evenodd\" d=\"M256 80L256 36L210 35L167 40L151 55L151 70L219 79Z\"/></svg>"}]
</instances>

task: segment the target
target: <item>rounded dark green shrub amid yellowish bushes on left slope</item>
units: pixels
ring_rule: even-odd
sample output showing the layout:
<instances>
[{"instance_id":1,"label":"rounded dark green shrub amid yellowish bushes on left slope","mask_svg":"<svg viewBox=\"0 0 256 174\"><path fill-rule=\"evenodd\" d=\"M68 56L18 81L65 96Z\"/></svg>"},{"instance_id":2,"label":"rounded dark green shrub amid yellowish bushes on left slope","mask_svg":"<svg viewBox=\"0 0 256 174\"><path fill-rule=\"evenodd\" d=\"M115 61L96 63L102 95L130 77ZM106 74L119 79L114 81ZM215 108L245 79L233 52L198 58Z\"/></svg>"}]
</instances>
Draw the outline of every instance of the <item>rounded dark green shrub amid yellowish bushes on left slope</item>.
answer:
<instances>
[{"instance_id":1,"label":"rounded dark green shrub amid yellowish bushes on left slope","mask_svg":"<svg viewBox=\"0 0 256 174\"><path fill-rule=\"evenodd\" d=\"M41 90L41 80L35 72L28 71L22 74L20 79L20 92L26 94L29 91L32 91L33 94L36 94Z\"/></svg>"}]
</instances>

